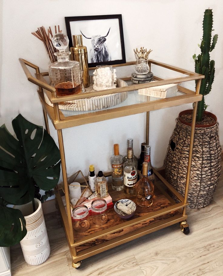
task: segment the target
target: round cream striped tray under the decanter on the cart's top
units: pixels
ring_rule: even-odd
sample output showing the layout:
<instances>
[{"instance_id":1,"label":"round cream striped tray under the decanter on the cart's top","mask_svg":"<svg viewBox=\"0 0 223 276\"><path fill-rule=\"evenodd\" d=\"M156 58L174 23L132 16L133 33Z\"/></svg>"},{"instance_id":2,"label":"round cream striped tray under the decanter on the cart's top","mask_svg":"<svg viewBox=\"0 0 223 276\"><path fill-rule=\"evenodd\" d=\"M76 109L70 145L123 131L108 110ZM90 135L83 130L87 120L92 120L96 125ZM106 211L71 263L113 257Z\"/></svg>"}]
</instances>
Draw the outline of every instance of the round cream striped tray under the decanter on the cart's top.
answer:
<instances>
[{"instance_id":1,"label":"round cream striped tray under the decanter on the cart's top","mask_svg":"<svg viewBox=\"0 0 223 276\"><path fill-rule=\"evenodd\" d=\"M90 76L90 86L86 88L86 92L95 92L93 89L93 76ZM116 87L124 87L128 86L128 84L122 80L117 79L116 80ZM78 99L73 101L67 101L63 103L59 103L58 107L62 110L72 110L72 111L89 111L89 110L99 110L104 109L107 107L115 106L121 102L123 102L125 99L127 99L128 93L127 92L121 92L121 93L115 93L115 94L108 94L104 96L96 96L86 99ZM53 104L48 99L47 95L44 93L44 99L45 102L49 106L53 106Z\"/></svg>"}]
</instances>

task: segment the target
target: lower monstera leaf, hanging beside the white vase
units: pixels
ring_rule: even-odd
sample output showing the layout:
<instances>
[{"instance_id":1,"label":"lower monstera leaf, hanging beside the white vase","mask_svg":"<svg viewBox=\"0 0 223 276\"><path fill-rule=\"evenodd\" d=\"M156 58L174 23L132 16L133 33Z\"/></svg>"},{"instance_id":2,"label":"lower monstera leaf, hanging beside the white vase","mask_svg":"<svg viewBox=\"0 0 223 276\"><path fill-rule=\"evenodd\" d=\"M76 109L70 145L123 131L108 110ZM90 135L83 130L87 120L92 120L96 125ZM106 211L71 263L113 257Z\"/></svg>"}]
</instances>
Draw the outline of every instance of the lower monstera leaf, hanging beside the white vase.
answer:
<instances>
[{"instance_id":1,"label":"lower monstera leaf, hanging beside the white vase","mask_svg":"<svg viewBox=\"0 0 223 276\"><path fill-rule=\"evenodd\" d=\"M0 247L18 244L27 233L21 211L6 207L5 204L0 199Z\"/></svg>"}]
</instances>

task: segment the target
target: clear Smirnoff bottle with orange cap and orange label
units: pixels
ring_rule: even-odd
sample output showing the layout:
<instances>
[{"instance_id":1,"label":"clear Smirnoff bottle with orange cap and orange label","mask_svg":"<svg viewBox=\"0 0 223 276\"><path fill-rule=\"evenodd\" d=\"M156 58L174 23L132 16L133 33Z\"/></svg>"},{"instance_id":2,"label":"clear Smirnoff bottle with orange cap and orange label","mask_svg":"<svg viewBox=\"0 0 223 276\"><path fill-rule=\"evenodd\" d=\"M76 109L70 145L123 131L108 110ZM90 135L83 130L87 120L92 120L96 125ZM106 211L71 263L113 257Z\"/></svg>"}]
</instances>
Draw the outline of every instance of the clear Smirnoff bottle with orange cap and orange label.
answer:
<instances>
[{"instance_id":1,"label":"clear Smirnoff bottle with orange cap and orange label","mask_svg":"<svg viewBox=\"0 0 223 276\"><path fill-rule=\"evenodd\" d=\"M112 189L121 191L123 185L123 157L119 154L119 145L114 144L114 155L110 158L112 166Z\"/></svg>"}]
</instances>

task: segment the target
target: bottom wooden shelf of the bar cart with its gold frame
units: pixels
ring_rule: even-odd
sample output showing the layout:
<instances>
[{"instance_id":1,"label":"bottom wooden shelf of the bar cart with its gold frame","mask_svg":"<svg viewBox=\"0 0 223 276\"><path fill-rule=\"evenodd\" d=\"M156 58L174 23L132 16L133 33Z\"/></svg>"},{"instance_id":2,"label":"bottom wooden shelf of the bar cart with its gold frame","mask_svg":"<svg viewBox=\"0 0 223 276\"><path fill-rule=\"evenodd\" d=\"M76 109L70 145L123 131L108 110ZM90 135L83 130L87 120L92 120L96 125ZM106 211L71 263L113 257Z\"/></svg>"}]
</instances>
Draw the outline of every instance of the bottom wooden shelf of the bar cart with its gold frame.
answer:
<instances>
[{"instance_id":1,"label":"bottom wooden shelf of the bar cart with its gold frame","mask_svg":"<svg viewBox=\"0 0 223 276\"><path fill-rule=\"evenodd\" d=\"M137 205L133 217L128 220L117 216L114 208L108 209L108 222L102 226L96 226L90 217L91 227L84 233L74 231L75 243L70 244L67 225L67 215L62 204L62 191L56 193L58 207L61 212L72 255L72 266L78 268L81 261L95 254L101 253L125 242L142 237L172 224L180 223L181 231L189 234L187 215L182 214L182 207L187 204L176 203L163 190L160 181L155 184L155 197L150 207L140 207ZM114 191L109 185L109 194L113 203L121 198L125 198L123 191ZM132 199L135 201L135 199Z\"/></svg>"}]
</instances>

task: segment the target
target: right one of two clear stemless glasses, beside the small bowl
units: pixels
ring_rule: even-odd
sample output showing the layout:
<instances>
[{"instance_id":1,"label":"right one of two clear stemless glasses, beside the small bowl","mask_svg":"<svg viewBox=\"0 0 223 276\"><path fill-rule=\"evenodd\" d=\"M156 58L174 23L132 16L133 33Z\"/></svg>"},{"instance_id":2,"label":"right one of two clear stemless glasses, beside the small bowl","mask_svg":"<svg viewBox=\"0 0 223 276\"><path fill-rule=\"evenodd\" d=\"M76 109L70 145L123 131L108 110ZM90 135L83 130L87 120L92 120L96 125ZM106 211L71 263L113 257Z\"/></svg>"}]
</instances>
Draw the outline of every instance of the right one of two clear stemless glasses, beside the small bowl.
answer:
<instances>
[{"instance_id":1,"label":"right one of two clear stemless glasses, beside the small bowl","mask_svg":"<svg viewBox=\"0 0 223 276\"><path fill-rule=\"evenodd\" d=\"M96 225L103 225L108 221L107 203L102 198L92 201L92 221Z\"/></svg>"}]
</instances>

